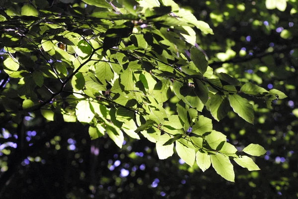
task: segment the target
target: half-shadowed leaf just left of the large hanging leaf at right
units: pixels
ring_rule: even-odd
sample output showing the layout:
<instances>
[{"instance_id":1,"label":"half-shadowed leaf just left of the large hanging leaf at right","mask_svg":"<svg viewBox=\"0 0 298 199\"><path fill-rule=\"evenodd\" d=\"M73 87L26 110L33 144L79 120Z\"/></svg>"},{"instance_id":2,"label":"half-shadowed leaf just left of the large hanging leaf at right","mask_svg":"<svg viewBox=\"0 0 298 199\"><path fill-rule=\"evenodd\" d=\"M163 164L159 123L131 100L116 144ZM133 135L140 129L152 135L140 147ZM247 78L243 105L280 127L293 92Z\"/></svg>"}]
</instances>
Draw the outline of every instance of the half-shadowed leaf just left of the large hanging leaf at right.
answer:
<instances>
[{"instance_id":1,"label":"half-shadowed leaf just left of the large hanging leaf at right","mask_svg":"<svg viewBox=\"0 0 298 199\"><path fill-rule=\"evenodd\" d=\"M210 101L210 112L216 120L220 121L221 119L224 119L229 109L229 103L226 96L223 96L220 93L212 96Z\"/></svg>"}]
</instances>

